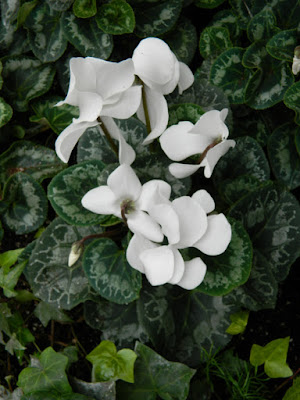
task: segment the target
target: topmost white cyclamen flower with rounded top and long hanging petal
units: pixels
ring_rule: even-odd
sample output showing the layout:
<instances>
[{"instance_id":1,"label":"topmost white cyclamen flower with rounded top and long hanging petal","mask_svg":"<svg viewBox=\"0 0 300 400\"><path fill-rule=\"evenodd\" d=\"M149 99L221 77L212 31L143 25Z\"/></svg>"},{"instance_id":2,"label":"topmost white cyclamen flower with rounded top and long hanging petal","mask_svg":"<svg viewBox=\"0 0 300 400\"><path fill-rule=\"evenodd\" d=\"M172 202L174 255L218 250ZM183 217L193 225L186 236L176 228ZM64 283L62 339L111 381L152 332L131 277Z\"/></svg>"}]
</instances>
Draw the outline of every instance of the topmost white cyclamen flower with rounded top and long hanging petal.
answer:
<instances>
[{"instance_id":1,"label":"topmost white cyclamen flower with rounded top and long hanging petal","mask_svg":"<svg viewBox=\"0 0 300 400\"><path fill-rule=\"evenodd\" d=\"M164 95L179 93L192 85L194 76L189 67L177 60L175 54L163 40L150 37L143 39L132 55L135 74L144 83L151 133L144 144L159 137L168 125L168 105ZM137 111L138 118L146 123L143 103Z\"/></svg>"}]
</instances>

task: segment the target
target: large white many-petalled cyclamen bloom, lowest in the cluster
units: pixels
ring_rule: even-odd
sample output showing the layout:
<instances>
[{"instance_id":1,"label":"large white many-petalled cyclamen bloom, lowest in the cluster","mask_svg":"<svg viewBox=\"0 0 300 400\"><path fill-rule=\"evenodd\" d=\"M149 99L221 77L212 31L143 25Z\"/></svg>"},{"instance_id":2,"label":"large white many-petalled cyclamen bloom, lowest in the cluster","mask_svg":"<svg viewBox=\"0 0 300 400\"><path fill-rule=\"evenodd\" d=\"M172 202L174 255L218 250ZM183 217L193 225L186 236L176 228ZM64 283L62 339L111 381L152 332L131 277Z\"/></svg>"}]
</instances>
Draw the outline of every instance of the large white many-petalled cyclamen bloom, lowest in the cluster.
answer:
<instances>
[{"instance_id":1,"label":"large white many-petalled cyclamen bloom, lowest in the cluster","mask_svg":"<svg viewBox=\"0 0 300 400\"><path fill-rule=\"evenodd\" d=\"M168 207L173 212L168 212ZM153 286L171 283L188 290L196 288L204 279L206 265L200 257L184 261L178 249L196 247L207 255L226 250L231 226L223 214L207 216L214 208L206 190L197 191L192 198L183 196L172 203L155 205L149 214L162 226L169 245L161 246L135 234L126 253L128 263L144 273Z\"/></svg>"}]
</instances>

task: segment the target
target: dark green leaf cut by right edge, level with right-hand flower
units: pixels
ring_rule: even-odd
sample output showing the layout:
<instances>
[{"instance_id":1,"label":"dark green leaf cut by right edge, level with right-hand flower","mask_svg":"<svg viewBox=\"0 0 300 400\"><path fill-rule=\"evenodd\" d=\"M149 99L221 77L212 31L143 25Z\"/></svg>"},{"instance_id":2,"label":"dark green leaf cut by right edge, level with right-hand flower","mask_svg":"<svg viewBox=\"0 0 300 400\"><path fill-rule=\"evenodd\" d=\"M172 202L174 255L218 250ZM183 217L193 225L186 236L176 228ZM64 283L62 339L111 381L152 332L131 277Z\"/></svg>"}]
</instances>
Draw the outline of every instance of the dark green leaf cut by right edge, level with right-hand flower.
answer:
<instances>
[{"instance_id":1,"label":"dark green leaf cut by right edge, level with right-hand flower","mask_svg":"<svg viewBox=\"0 0 300 400\"><path fill-rule=\"evenodd\" d=\"M295 137L299 133L299 126L287 122L275 129L268 141L273 173L289 189L300 185L300 158L295 146Z\"/></svg>"}]
</instances>

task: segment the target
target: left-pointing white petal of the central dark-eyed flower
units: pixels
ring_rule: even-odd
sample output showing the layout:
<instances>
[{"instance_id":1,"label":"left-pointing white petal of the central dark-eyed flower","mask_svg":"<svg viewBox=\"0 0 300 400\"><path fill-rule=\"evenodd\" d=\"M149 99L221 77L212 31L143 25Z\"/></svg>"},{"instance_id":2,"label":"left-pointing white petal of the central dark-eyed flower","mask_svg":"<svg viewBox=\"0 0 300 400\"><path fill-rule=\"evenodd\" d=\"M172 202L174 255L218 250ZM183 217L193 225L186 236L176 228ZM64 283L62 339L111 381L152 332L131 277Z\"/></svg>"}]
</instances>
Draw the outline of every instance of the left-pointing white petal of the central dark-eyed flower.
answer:
<instances>
[{"instance_id":1,"label":"left-pointing white petal of the central dark-eyed flower","mask_svg":"<svg viewBox=\"0 0 300 400\"><path fill-rule=\"evenodd\" d=\"M84 208L96 214L118 214L120 204L108 186L99 186L88 191L81 199Z\"/></svg>"}]
</instances>

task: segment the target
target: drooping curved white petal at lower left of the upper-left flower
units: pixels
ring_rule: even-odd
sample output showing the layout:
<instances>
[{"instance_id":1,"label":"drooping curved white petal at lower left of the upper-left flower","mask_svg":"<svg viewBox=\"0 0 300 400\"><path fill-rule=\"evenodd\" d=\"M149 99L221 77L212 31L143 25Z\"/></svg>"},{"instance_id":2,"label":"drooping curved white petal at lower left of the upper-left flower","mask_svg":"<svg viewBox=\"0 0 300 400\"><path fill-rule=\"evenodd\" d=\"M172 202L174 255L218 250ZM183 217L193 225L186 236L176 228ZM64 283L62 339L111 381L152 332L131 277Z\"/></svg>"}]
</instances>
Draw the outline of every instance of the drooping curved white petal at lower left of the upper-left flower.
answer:
<instances>
[{"instance_id":1,"label":"drooping curved white petal at lower left of the upper-left flower","mask_svg":"<svg viewBox=\"0 0 300 400\"><path fill-rule=\"evenodd\" d=\"M76 146L79 138L87 128L98 125L97 121L72 123L64 129L55 142L55 151L58 157L65 163L69 161L72 150Z\"/></svg>"}]
</instances>

